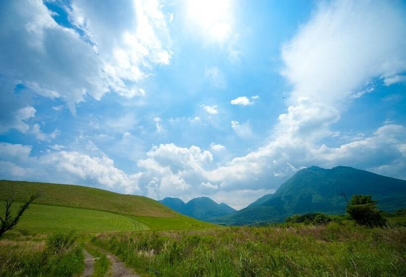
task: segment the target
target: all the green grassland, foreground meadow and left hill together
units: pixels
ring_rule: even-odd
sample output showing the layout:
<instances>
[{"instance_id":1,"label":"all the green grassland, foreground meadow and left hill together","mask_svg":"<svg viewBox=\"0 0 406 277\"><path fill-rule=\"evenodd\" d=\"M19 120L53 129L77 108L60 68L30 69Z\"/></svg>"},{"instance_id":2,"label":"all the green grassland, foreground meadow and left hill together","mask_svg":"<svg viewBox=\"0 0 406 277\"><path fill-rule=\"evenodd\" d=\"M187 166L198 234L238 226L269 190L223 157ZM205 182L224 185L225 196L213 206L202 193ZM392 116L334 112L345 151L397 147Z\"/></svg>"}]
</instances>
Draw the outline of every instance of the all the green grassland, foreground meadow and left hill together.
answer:
<instances>
[{"instance_id":1,"label":"all the green grassland, foreground meadow and left hill together","mask_svg":"<svg viewBox=\"0 0 406 277\"><path fill-rule=\"evenodd\" d=\"M7 190L0 193L0 206L8 193L15 192L22 201L40 186L0 184ZM180 215L145 197L58 187L41 187L41 198L1 237L0 277L80 276L85 269L83 249L96 258L93 277L111 274L107 253L142 277L406 276L404 212L387 213L383 228L361 227L346 216L331 217L325 225L222 227ZM71 190L66 198L64 189ZM75 197L80 193L89 200ZM101 203L91 200L92 193ZM126 199L132 201L129 209ZM13 214L20 205L13 204Z\"/></svg>"}]
</instances>

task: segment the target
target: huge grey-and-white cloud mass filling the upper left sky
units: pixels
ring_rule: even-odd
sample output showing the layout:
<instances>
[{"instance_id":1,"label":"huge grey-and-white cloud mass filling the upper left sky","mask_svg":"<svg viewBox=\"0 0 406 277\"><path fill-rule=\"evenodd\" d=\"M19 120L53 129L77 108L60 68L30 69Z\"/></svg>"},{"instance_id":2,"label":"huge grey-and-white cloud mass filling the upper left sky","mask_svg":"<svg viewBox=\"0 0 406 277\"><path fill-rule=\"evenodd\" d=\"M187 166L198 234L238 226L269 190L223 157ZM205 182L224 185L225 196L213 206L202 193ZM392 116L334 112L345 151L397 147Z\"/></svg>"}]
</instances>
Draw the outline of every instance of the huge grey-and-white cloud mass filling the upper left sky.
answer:
<instances>
[{"instance_id":1,"label":"huge grey-and-white cloud mass filling the upper left sky","mask_svg":"<svg viewBox=\"0 0 406 277\"><path fill-rule=\"evenodd\" d=\"M61 98L75 112L85 95L99 100L109 91L144 94L137 83L153 66L169 63L170 38L158 1L101 8L73 0L64 8L75 28L55 22L42 1L1 3L0 74L7 82Z\"/></svg>"}]
</instances>

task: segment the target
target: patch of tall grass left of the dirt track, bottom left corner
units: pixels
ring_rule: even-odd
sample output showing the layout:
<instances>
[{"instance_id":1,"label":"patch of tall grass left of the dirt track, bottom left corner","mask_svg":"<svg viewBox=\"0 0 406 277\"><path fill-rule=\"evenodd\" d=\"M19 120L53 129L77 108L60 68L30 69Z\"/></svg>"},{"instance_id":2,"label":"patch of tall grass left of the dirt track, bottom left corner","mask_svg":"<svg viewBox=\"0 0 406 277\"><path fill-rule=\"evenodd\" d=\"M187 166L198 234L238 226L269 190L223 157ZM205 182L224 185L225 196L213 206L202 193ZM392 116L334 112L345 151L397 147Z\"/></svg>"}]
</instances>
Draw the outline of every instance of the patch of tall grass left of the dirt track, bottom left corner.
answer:
<instances>
[{"instance_id":1,"label":"patch of tall grass left of the dirt track, bottom left corner","mask_svg":"<svg viewBox=\"0 0 406 277\"><path fill-rule=\"evenodd\" d=\"M11 233L0 240L0 277L69 277L84 269L73 232L48 237Z\"/></svg>"}]
</instances>

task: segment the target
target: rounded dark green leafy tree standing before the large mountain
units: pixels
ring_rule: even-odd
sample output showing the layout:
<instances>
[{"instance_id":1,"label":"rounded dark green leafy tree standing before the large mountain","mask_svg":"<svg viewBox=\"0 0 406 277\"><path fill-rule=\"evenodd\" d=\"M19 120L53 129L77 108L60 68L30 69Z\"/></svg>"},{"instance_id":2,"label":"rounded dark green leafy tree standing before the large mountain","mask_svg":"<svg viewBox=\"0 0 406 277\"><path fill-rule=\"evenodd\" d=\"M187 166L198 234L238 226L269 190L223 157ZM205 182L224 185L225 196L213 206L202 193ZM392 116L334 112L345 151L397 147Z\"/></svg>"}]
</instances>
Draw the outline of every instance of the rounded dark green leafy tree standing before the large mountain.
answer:
<instances>
[{"instance_id":1,"label":"rounded dark green leafy tree standing before the large mountain","mask_svg":"<svg viewBox=\"0 0 406 277\"><path fill-rule=\"evenodd\" d=\"M383 218L382 212L376 207L377 202L372 199L372 195L353 195L347 205L347 213L359 225L385 226L386 220Z\"/></svg>"}]
</instances>

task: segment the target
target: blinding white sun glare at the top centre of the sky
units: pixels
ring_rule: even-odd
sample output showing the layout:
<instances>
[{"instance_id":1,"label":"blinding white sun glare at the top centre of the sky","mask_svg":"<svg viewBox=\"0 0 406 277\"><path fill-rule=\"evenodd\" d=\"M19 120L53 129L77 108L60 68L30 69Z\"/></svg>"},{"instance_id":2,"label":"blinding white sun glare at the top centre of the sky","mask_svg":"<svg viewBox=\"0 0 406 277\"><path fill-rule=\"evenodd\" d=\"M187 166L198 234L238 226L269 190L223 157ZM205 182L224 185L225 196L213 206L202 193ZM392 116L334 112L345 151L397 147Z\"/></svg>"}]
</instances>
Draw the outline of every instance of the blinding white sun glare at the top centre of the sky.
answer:
<instances>
[{"instance_id":1,"label":"blinding white sun glare at the top centre of the sky","mask_svg":"<svg viewBox=\"0 0 406 277\"><path fill-rule=\"evenodd\" d=\"M231 31L231 0L189 0L187 15L205 36L219 43Z\"/></svg>"}]
</instances>

